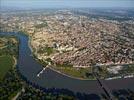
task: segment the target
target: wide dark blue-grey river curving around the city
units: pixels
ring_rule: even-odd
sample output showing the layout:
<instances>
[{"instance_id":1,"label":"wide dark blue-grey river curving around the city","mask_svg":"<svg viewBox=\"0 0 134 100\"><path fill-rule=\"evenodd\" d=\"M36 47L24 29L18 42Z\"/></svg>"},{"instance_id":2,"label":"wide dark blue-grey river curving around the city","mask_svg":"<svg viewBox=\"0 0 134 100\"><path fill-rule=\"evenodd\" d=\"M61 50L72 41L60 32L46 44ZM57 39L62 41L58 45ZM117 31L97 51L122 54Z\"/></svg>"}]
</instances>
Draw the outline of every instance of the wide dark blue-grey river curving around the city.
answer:
<instances>
[{"instance_id":1,"label":"wide dark blue-grey river curving around the city","mask_svg":"<svg viewBox=\"0 0 134 100\"><path fill-rule=\"evenodd\" d=\"M43 69L32 55L28 45L29 38L26 35L18 34L15 32L0 33L3 35L14 35L20 40L19 44L19 59L18 70L31 83L37 84L43 88L58 88L68 89L73 92L80 92L86 94L100 94L104 93L97 81L91 80L78 80L61 75L49 68L47 68L40 77L37 74ZM118 89L131 89L134 90L134 78L116 79L116 80L102 80L107 89L110 91Z\"/></svg>"}]
</instances>

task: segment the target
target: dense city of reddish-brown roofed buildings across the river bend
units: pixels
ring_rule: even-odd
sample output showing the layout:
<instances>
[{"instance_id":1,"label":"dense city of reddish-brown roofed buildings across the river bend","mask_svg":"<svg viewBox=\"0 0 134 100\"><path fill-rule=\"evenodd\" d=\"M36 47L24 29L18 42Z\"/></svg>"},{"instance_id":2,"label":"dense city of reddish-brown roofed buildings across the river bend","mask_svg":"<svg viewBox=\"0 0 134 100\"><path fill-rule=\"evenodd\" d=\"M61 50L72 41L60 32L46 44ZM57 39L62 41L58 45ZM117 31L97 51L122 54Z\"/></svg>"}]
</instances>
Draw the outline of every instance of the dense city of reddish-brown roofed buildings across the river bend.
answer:
<instances>
[{"instance_id":1,"label":"dense city of reddish-brown roofed buildings across the river bend","mask_svg":"<svg viewBox=\"0 0 134 100\"><path fill-rule=\"evenodd\" d=\"M134 62L134 20L95 19L66 10L2 14L1 23L1 31L28 33L35 55L44 61L50 58L74 67ZM53 52L47 55L46 47Z\"/></svg>"}]
</instances>

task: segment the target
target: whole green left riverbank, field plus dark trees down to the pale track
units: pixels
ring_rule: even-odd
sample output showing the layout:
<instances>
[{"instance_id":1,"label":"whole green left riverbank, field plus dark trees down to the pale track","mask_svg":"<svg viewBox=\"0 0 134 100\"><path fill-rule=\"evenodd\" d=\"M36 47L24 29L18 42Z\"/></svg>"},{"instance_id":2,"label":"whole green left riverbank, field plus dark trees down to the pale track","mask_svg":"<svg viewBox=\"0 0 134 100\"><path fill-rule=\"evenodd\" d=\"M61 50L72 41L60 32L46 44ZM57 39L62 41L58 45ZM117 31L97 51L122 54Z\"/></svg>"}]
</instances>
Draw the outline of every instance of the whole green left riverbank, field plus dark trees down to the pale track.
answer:
<instances>
[{"instance_id":1,"label":"whole green left riverbank, field plus dark trees down to the pale track","mask_svg":"<svg viewBox=\"0 0 134 100\"><path fill-rule=\"evenodd\" d=\"M18 40L12 36L0 36L0 44L0 100L11 100L22 88L13 68L18 55Z\"/></svg>"}]
</instances>

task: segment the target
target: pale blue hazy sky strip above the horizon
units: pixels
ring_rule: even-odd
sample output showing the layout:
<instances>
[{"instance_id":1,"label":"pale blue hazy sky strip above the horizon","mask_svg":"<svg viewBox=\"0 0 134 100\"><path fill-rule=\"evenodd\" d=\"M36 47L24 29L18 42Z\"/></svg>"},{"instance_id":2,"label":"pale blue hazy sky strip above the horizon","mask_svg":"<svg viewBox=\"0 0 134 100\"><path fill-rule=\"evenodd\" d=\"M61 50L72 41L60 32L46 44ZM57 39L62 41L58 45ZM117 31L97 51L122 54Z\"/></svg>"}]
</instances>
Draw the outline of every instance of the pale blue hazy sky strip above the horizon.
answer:
<instances>
[{"instance_id":1,"label":"pale blue hazy sky strip above the horizon","mask_svg":"<svg viewBox=\"0 0 134 100\"><path fill-rule=\"evenodd\" d=\"M0 0L1 7L134 7L134 0Z\"/></svg>"}]
</instances>

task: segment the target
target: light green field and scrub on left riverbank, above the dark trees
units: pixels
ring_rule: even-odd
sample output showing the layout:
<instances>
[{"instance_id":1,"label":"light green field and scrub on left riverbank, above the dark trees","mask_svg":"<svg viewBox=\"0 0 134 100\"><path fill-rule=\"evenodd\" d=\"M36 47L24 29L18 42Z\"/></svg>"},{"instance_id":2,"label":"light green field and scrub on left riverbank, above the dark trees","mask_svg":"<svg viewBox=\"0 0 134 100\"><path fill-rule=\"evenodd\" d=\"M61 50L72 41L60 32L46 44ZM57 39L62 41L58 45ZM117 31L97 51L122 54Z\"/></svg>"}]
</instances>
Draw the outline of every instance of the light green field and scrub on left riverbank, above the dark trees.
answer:
<instances>
[{"instance_id":1,"label":"light green field and scrub on left riverbank, above the dark trees","mask_svg":"<svg viewBox=\"0 0 134 100\"><path fill-rule=\"evenodd\" d=\"M0 36L0 80L4 80L5 75L15 65L15 58L18 53L18 40L11 36Z\"/></svg>"}]
</instances>

